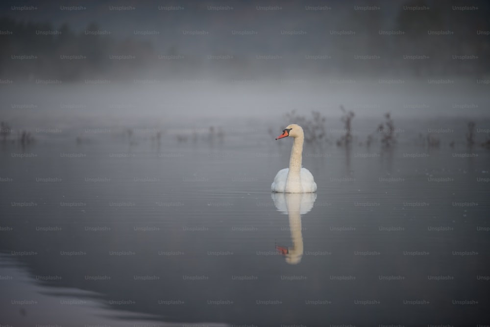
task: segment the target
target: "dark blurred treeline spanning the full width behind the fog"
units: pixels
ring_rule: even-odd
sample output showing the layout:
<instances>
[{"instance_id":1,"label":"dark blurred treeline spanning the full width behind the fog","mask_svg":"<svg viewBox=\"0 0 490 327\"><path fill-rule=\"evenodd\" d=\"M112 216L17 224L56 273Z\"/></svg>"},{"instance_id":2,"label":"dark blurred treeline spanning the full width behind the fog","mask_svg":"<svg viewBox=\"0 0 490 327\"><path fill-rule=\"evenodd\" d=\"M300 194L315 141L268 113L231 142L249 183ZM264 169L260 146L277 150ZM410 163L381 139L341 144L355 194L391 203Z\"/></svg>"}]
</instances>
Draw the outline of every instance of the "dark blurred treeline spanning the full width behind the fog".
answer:
<instances>
[{"instance_id":1,"label":"dark blurred treeline spanning the full width behind the fog","mask_svg":"<svg viewBox=\"0 0 490 327\"><path fill-rule=\"evenodd\" d=\"M148 38L100 35L103 29L97 23L75 32L69 24L53 26L4 16L0 18L0 77L75 81L202 76L488 76L490 2L479 1L478 9L473 10L461 10L461 6L474 7L453 0L415 0L401 4L388 17L382 10L344 10L342 19L335 21L324 19L322 13L305 18L303 12L304 17L296 20L293 14L284 13L274 16L282 27L277 27L273 37L266 32L264 20L239 29L253 30L256 35L233 35L231 27L220 26L223 31L218 36L188 36L182 31L189 21L183 20L172 22L172 27L162 23L159 27L166 33ZM410 9L414 7L419 9ZM188 20L201 19L199 24L204 29L217 29L210 19L190 16ZM169 29L175 32L170 33L172 37ZM282 30L300 35L281 35Z\"/></svg>"}]
</instances>

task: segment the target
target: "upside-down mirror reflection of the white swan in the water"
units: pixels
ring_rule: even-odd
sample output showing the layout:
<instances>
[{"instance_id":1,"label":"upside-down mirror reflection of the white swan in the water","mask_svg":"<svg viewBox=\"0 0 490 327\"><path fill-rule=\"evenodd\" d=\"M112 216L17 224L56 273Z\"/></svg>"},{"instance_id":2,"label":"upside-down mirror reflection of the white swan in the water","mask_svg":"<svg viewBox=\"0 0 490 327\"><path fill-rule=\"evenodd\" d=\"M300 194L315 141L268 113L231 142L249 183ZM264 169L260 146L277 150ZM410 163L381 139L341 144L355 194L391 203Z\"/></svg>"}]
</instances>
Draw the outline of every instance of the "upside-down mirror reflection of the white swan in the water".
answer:
<instances>
[{"instance_id":1,"label":"upside-down mirror reflection of the white swan in the water","mask_svg":"<svg viewBox=\"0 0 490 327\"><path fill-rule=\"evenodd\" d=\"M301 262L303 256L303 234L301 230L301 215L313 208L317 199L316 193L271 193L272 200L278 211L289 216L292 247L277 246L276 249L286 257L286 262L292 265Z\"/></svg>"}]
</instances>

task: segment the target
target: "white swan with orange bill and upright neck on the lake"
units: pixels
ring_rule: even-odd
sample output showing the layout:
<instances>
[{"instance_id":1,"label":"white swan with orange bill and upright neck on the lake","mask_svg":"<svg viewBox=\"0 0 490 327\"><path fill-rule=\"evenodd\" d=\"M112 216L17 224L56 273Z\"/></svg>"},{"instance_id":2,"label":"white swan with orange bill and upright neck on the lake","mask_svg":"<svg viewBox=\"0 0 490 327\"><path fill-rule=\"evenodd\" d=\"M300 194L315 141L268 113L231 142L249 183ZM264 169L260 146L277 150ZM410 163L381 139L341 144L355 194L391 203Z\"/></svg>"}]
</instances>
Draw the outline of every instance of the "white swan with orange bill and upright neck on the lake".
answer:
<instances>
[{"instance_id":1,"label":"white swan with orange bill and upright neck on the lake","mask_svg":"<svg viewBox=\"0 0 490 327\"><path fill-rule=\"evenodd\" d=\"M294 138L289 168L277 172L270 188L272 192L279 193L313 193L317 190L317 183L315 183L310 171L301 167L304 142L303 128L291 124L282 130L282 134L276 140L287 136Z\"/></svg>"}]
</instances>

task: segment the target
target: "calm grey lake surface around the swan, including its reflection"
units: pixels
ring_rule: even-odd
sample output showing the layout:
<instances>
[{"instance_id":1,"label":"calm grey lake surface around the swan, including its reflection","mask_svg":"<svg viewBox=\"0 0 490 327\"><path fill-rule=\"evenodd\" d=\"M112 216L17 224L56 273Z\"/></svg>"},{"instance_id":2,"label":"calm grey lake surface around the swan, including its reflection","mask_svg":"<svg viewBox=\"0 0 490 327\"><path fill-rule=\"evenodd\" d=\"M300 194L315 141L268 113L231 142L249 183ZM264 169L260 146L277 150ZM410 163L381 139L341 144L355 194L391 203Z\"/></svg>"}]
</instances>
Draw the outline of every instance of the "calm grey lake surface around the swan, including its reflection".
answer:
<instances>
[{"instance_id":1,"label":"calm grey lake surface around the swan, including its reflection","mask_svg":"<svg viewBox=\"0 0 490 327\"><path fill-rule=\"evenodd\" d=\"M2 144L2 323L488 323L487 150L306 147L316 196L274 196L281 141Z\"/></svg>"}]
</instances>

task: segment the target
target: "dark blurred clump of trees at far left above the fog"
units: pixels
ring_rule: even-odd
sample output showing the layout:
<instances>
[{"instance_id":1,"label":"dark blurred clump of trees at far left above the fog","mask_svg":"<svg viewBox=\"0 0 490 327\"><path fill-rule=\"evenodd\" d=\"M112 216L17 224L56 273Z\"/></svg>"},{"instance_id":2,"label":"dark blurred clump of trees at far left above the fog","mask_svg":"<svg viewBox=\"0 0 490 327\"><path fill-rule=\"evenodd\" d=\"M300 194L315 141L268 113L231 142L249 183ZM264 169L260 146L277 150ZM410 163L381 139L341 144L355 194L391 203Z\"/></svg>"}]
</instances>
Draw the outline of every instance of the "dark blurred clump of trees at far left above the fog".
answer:
<instances>
[{"instance_id":1,"label":"dark blurred clump of trees at far left above the fog","mask_svg":"<svg viewBox=\"0 0 490 327\"><path fill-rule=\"evenodd\" d=\"M68 24L54 28L49 23L25 23L4 17L0 19L0 30L12 32L0 38L0 74L7 78L118 78L135 74L156 57L149 42L130 38L117 41L110 35L89 34L101 30L96 23L74 33ZM60 33L43 35L39 31ZM120 54L131 54L135 59L124 60L124 65L109 59L110 55Z\"/></svg>"}]
</instances>

